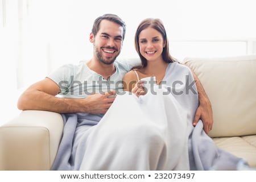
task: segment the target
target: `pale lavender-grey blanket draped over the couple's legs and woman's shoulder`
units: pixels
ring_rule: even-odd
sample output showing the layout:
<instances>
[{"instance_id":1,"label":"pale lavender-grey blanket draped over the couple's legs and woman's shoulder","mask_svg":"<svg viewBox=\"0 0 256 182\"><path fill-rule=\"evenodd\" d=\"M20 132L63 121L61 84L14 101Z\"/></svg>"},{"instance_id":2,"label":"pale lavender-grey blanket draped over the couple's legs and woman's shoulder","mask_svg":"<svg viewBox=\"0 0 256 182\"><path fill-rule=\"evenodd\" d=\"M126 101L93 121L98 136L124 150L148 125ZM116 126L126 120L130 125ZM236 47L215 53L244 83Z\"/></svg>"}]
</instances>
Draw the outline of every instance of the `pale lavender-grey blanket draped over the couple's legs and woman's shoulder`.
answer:
<instances>
[{"instance_id":1,"label":"pale lavender-grey blanket draped over the couple's legs and woman's shoulder","mask_svg":"<svg viewBox=\"0 0 256 182\"><path fill-rule=\"evenodd\" d=\"M144 96L117 95L106 114L62 114L63 138L52 170L236 170L243 159L218 148L199 121L195 82L171 63Z\"/></svg>"}]
</instances>

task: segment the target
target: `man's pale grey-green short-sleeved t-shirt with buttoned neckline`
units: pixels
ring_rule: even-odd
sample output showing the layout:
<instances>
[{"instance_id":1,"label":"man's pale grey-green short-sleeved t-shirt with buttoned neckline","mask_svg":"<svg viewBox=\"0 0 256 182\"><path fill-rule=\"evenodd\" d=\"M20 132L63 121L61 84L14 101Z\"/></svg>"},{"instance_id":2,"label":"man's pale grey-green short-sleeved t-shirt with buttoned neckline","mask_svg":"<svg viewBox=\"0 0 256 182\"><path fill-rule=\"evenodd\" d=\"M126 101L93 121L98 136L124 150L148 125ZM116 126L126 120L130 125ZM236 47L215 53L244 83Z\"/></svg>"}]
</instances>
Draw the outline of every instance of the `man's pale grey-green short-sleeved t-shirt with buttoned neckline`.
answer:
<instances>
[{"instance_id":1,"label":"man's pale grey-green short-sleeved t-shirt with buttoned neckline","mask_svg":"<svg viewBox=\"0 0 256 182\"><path fill-rule=\"evenodd\" d=\"M136 65L136 62L116 60L114 65L116 71L108 80L92 71L86 61L80 61L78 65L65 64L51 73L48 78L59 85L61 90L59 96L65 98L85 98L96 93L104 94L110 90L122 94L122 78Z\"/></svg>"}]
</instances>

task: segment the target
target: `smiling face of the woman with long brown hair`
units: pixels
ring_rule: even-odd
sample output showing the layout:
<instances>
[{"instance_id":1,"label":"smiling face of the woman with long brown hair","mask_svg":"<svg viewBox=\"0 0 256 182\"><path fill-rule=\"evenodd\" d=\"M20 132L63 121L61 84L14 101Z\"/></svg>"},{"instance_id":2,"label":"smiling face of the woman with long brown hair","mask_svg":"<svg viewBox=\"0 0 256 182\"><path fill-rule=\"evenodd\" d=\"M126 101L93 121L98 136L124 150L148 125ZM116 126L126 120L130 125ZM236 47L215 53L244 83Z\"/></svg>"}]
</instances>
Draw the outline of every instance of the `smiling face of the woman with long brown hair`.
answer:
<instances>
[{"instance_id":1,"label":"smiling face of the woman with long brown hair","mask_svg":"<svg viewBox=\"0 0 256 182\"><path fill-rule=\"evenodd\" d=\"M147 61L162 59L165 46L162 34L154 28L148 27L139 34L139 52Z\"/></svg>"}]
</instances>

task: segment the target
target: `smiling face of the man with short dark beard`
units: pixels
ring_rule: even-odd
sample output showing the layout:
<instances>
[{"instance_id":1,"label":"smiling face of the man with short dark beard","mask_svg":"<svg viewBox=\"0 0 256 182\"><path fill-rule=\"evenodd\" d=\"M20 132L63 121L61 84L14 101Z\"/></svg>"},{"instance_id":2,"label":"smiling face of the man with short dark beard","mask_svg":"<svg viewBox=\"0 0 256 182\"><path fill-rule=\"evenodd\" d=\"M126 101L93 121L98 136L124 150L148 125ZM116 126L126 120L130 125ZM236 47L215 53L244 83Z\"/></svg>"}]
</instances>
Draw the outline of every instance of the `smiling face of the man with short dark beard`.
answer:
<instances>
[{"instance_id":1,"label":"smiling face of the man with short dark beard","mask_svg":"<svg viewBox=\"0 0 256 182\"><path fill-rule=\"evenodd\" d=\"M112 64L122 49L123 28L109 20L102 20L96 35L90 35L94 55L101 63Z\"/></svg>"}]
</instances>

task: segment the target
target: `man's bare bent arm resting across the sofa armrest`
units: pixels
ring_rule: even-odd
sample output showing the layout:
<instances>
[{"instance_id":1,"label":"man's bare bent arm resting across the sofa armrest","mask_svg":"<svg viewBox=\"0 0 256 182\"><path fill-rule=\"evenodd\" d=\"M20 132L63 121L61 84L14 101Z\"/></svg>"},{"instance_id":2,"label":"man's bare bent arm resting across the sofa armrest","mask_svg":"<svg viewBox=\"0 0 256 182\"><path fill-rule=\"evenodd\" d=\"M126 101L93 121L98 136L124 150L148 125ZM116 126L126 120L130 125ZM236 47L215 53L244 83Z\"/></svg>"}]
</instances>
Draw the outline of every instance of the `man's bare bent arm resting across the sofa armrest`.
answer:
<instances>
[{"instance_id":1,"label":"man's bare bent arm resting across the sofa armrest","mask_svg":"<svg viewBox=\"0 0 256 182\"><path fill-rule=\"evenodd\" d=\"M110 94L94 94L82 99L55 97L60 92L59 86L49 78L31 85L18 100L20 110L47 110L56 113L106 113L114 101Z\"/></svg>"}]
</instances>

